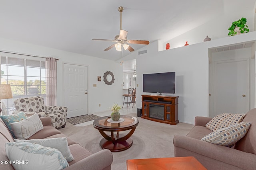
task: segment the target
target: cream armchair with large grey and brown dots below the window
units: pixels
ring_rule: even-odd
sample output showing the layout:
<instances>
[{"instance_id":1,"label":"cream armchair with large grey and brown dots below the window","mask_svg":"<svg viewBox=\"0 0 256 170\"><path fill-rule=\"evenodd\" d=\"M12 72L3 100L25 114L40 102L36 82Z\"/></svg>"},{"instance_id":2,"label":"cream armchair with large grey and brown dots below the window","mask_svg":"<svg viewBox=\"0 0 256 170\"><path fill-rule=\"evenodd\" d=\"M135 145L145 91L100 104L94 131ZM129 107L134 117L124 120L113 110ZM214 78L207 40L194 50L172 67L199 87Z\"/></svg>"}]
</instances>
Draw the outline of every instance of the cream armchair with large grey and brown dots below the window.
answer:
<instances>
[{"instance_id":1,"label":"cream armchair with large grey and brown dots below the window","mask_svg":"<svg viewBox=\"0 0 256 170\"><path fill-rule=\"evenodd\" d=\"M19 98L14 101L16 111L12 114L24 112L26 114L38 113L39 117L51 117L52 127L65 127L68 108L62 106L45 106L44 98L40 96Z\"/></svg>"}]
</instances>

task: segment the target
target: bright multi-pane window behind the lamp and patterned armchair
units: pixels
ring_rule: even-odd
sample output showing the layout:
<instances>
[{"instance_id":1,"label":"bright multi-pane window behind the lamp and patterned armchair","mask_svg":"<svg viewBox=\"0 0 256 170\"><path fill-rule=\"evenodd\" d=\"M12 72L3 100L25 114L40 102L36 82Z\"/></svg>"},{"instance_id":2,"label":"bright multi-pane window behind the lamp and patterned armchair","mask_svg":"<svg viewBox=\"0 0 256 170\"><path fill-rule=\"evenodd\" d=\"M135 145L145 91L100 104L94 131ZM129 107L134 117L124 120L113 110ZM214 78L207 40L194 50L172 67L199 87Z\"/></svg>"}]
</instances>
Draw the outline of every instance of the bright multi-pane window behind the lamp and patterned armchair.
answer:
<instances>
[{"instance_id":1,"label":"bright multi-pane window behind the lamp and patterned armchair","mask_svg":"<svg viewBox=\"0 0 256 170\"><path fill-rule=\"evenodd\" d=\"M45 61L16 56L0 55L0 83L10 84L13 95L13 99L2 100L6 109L14 108L13 101L17 98L46 96Z\"/></svg>"}]
</instances>

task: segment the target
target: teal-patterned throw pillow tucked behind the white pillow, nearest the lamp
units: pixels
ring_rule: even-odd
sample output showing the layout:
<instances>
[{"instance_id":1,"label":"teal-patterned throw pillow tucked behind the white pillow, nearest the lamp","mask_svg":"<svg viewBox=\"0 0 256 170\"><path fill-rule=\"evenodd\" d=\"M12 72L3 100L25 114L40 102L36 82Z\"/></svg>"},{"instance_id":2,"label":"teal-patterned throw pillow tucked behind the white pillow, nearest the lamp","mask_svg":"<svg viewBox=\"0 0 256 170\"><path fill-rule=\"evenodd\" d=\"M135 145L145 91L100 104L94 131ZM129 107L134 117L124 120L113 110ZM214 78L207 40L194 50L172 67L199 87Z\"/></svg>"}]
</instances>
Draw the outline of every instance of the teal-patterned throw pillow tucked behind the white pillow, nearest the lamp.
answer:
<instances>
[{"instance_id":1,"label":"teal-patterned throw pillow tucked behind the white pillow, nearest the lamp","mask_svg":"<svg viewBox=\"0 0 256 170\"><path fill-rule=\"evenodd\" d=\"M8 127L13 138L15 138L15 136L14 136L14 133L12 132L12 127L10 123L22 121L28 118L28 116L24 112L20 112L16 115L1 115L0 117L4 121L5 125Z\"/></svg>"}]
</instances>

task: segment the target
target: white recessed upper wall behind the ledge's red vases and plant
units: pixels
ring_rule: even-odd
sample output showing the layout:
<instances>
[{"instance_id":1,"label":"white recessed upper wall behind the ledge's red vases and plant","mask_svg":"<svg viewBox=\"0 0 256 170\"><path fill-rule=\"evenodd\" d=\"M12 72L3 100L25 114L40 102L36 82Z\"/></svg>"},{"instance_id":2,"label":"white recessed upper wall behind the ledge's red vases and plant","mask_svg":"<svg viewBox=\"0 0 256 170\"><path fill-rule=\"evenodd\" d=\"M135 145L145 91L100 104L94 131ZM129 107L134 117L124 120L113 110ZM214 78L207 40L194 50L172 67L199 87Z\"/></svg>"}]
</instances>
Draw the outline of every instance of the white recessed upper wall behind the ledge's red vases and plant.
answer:
<instances>
[{"instance_id":1,"label":"white recessed upper wall behind the ledge's red vases and plant","mask_svg":"<svg viewBox=\"0 0 256 170\"><path fill-rule=\"evenodd\" d=\"M201 43L206 38L206 35L212 40L228 37L228 28L231 26L232 22L242 17L247 19L246 25L248 25L250 32L254 31L254 11L247 10L232 14L220 13L219 16L216 16L216 18L213 18L210 22L198 25L198 27L169 41L159 41L161 44L159 45L158 51L165 50L166 43L170 43L170 49L172 49L184 46L186 41L188 41L189 45Z\"/></svg>"}]
</instances>

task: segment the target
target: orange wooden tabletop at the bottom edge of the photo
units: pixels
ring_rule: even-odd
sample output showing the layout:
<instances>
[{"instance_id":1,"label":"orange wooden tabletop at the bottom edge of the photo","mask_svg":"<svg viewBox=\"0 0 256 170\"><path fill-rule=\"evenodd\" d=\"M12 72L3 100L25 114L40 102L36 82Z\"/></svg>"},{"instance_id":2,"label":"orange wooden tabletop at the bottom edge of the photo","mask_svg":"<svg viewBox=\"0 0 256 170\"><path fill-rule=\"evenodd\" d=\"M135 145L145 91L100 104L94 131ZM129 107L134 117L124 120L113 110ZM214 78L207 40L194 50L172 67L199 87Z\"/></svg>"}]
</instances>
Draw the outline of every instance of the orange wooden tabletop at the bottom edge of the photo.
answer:
<instances>
[{"instance_id":1,"label":"orange wooden tabletop at the bottom edge of the photo","mask_svg":"<svg viewBox=\"0 0 256 170\"><path fill-rule=\"evenodd\" d=\"M150 158L126 160L127 170L207 170L194 158Z\"/></svg>"}]
</instances>

